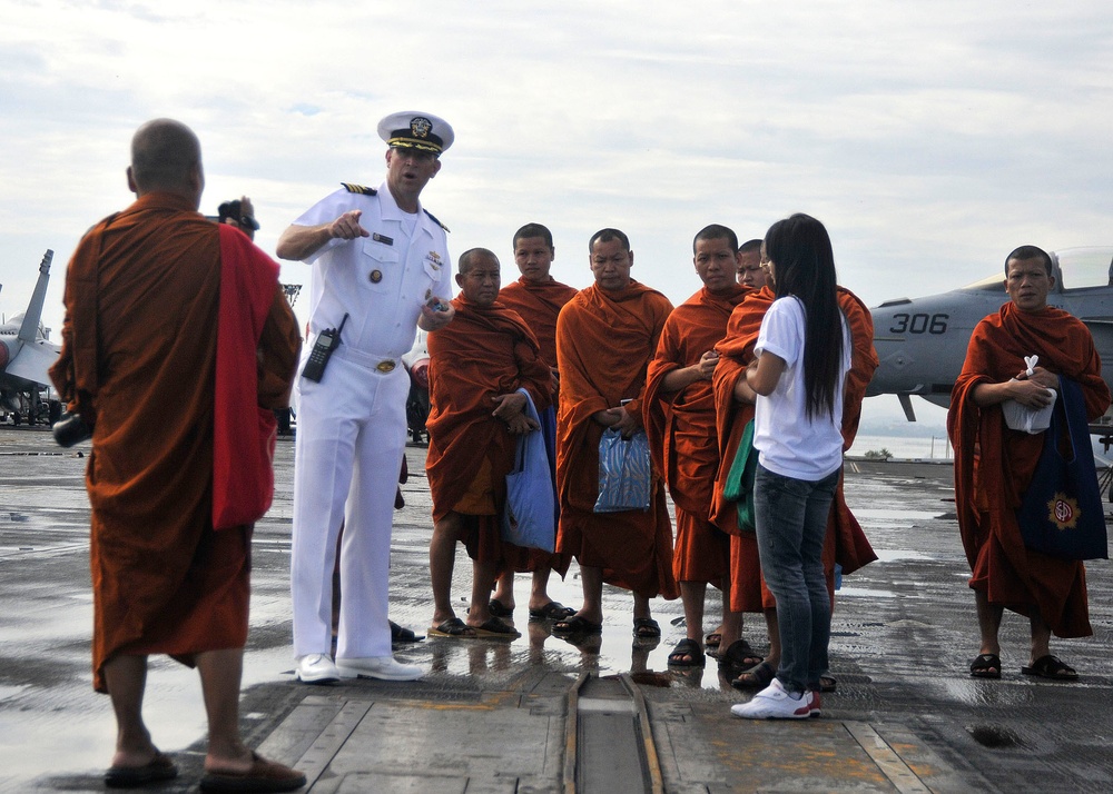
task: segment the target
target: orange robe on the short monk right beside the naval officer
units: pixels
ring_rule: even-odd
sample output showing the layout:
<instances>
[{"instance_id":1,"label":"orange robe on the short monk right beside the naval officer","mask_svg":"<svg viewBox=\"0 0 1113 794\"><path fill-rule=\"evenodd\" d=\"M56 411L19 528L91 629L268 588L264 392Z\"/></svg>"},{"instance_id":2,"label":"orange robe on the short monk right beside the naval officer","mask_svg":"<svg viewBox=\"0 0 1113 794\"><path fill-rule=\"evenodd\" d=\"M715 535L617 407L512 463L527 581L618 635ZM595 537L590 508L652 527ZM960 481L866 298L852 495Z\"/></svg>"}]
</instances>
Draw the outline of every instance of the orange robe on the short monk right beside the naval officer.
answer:
<instances>
[{"instance_id":1,"label":"orange robe on the short monk right beside the naval officer","mask_svg":"<svg viewBox=\"0 0 1113 794\"><path fill-rule=\"evenodd\" d=\"M518 436L492 416L494 397L519 388L539 411L552 401L552 373L533 333L495 301L476 306L463 295L456 315L429 335L429 454L425 473L433 497L433 520L449 513L465 519L465 544L473 559L502 562L500 516L506 475L514 468Z\"/></svg>"}]
</instances>

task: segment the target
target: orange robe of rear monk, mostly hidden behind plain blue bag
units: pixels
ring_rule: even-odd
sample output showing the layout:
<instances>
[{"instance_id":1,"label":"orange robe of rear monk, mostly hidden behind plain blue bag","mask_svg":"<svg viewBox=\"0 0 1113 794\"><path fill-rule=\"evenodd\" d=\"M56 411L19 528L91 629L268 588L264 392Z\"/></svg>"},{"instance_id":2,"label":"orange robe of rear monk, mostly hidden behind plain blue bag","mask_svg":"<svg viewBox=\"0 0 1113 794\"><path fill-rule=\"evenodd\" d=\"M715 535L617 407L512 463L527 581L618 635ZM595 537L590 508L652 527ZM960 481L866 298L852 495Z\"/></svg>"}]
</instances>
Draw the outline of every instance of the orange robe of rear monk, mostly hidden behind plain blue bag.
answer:
<instances>
[{"instance_id":1,"label":"orange robe of rear monk, mostly hidden behind plain blue bag","mask_svg":"<svg viewBox=\"0 0 1113 794\"><path fill-rule=\"evenodd\" d=\"M538 338L541 357L553 369L556 368L556 316L578 291L552 277L540 284L520 278L499 291L499 302L521 315ZM506 562L520 574L552 569L563 577L572 562L570 554L550 554L540 548L521 549L521 554L511 556Z\"/></svg>"}]
</instances>

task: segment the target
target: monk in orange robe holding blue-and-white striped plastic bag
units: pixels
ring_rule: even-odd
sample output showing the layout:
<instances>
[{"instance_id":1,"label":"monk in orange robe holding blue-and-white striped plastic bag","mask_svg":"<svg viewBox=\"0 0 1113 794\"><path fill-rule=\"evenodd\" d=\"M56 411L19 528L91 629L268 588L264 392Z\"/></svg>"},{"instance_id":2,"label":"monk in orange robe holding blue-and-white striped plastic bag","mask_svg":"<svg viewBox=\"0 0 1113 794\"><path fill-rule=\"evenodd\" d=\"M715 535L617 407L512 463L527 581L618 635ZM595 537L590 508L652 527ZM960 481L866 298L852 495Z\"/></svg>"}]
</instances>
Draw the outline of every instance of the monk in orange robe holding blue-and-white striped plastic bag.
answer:
<instances>
[{"instance_id":1,"label":"monk in orange robe holding blue-and-white striped plastic bag","mask_svg":"<svg viewBox=\"0 0 1113 794\"><path fill-rule=\"evenodd\" d=\"M595 282L581 290L556 320L561 374L556 411L556 548L580 564L583 605L553 625L559 634L602 628L603 583L633 592L634 635L659 637L649 599L676 598L672 525L663 482L652 472L647 510L597 514L599 440L605 428L629 438L641 429L646 370L672 304L630 278L633 251L618 229L597 231L589 244Z\"/></svg>"}]
</instances>

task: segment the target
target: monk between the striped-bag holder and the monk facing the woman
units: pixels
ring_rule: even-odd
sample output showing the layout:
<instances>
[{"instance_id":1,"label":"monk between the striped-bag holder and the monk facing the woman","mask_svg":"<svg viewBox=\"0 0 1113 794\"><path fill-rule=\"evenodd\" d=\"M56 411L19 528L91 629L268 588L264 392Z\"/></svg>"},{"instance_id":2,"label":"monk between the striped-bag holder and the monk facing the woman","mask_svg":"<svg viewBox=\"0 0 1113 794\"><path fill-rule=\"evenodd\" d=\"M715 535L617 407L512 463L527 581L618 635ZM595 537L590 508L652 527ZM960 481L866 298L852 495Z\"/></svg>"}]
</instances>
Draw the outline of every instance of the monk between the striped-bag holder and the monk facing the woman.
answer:
<instances>
[{"instance_id":1,"label":"monk between the striped-bag holder and the monk facing the woman","mask_svg":"<svg viewBox=\"0 0 1113 794\"><path fill-rule=\"evenodd\" d=\"M703 602L707 585L722 592L723 621L730 612L730 536L711 523L711 492L719 470L711 378L730 312L749 291L735 280L738 238L725 226L708 226L692 242L703 288L664 321L649 364L644 421L650 447L664 474L677 510L672 572L680 584L688 636L669 655L679 667L703 666ZM738 628L729 632L737 635ZM720 639L722 626L708 643ZM713 647L718 646L715 642Z\"/></svg>"}]
</instances>

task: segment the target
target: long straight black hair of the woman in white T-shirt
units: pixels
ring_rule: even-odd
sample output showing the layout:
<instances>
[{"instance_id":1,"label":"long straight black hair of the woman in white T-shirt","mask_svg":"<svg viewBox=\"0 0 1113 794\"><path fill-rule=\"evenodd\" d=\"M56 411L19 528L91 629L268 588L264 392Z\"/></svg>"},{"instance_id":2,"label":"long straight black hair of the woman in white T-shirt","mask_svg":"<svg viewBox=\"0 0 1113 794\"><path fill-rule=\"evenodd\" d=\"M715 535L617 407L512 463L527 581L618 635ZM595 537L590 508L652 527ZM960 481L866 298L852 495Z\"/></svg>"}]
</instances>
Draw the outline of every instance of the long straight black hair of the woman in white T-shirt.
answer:
<instances>
[{"instance_id":1,"label":"long straight black hair of the woman in white T-shirt","mask_svg":"<svg viewBox=\"0 0 1113 794\"><path fill-rule=\"evenodd\" d=\"M843 368L843 319L835 254L824 225L797 212L769 227L766 257L774 264L778 298L804 304L804 390L809 418L835 417L835 389Z\"/></svg>"}]
</instances>

